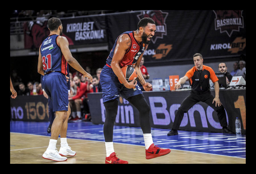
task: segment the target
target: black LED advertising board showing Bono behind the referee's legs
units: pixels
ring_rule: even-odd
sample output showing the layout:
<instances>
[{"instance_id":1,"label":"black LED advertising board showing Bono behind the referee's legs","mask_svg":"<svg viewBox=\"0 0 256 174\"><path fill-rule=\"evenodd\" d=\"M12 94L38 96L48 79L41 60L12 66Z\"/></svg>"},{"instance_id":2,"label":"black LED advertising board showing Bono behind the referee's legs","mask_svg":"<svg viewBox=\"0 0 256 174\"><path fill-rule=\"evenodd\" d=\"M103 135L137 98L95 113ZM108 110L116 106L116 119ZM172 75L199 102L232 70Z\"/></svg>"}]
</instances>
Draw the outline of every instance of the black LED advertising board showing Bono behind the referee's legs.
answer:
<instances>
[{"instance_id":1,"label":"black LED advertising board showing Bono behind the referee's legs","mask_svg":"<svg viewBox=\"0 0 256 174\"><path fill-rule=\"evenodd\" d=\"M143 92L146 101L150 105L150 126L160 129L171 129L175 112L189 93L190 91ZM211 90L211 93L215 95L214 90ZM238 117L241 121L241 132L245 134L245 90L220 90L219 96L226 111L228 128L235 132L235 119ZM102 103L102 93L89 93L88 99L92 123L104 124L106 111ZM139 111L122 97L118 101L115 125L140 127ZM196 103L184 114L179 129L202 132L222 131L217 112L203 102Z\"/></svg>"}]
</instances>

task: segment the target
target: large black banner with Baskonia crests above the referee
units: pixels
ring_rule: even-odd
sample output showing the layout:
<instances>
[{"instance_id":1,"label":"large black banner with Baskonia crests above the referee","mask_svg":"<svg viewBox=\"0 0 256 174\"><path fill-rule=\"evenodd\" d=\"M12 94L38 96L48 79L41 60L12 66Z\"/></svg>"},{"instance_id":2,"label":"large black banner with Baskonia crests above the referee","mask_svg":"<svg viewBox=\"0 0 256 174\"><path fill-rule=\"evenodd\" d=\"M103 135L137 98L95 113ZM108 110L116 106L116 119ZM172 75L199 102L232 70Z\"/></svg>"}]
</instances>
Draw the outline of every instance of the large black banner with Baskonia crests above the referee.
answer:
<instances>
[{"instance_id":1,"label":"large black banner with Baskonia crests above the referee","mask_svg":"<svg viewBox=\"0 0 256 174\"><path fill-rule=\"evenodd\" d=\"M117 36L137 30L143 17L156 22L155 36L144 52L146 62L245 54L245 11L142 11L107 16L109 48Z\"/></svg>"}]
</instances>

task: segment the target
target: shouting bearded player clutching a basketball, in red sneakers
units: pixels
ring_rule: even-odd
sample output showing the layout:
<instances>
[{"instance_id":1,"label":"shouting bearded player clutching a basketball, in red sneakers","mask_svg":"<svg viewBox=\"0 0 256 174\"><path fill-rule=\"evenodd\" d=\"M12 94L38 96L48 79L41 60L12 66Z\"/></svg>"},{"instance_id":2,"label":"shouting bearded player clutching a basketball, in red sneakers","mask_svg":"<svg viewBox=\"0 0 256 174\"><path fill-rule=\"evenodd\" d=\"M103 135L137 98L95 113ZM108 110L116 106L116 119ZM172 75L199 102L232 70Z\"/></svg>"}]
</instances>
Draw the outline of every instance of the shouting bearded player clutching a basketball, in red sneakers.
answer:
<instances>
[{"instance_id":1,"label":"shouting bearded player clutching a basketball, in red sneakers","mask_svg":"<svg viewBox=\"0 0 256 174\"><path fill-rule=\"evenodd\" d=\"M140 126L146 148L146 159L156 158L170 153L170 149L162 149L154 146L149 121L150 107L146 102L143 93L135 78L127 82L121 68L132 65L138 73L138 80L145 91L152 88L152 84L146 82L140 70L143 52L147 49L151 38L156 31L156 25L151 18L143 18L138 23L136 31L122 33L116 39L113 48L108 56L106 65L100 74L102 86L102 98L106 109L104 123L104 137L106 146L105 163L128 163L116 157L113 148L113 126L117 115L119 94L139 110ZM118 78L123 82L121 84Z\"/></svg>"}]
</instances>

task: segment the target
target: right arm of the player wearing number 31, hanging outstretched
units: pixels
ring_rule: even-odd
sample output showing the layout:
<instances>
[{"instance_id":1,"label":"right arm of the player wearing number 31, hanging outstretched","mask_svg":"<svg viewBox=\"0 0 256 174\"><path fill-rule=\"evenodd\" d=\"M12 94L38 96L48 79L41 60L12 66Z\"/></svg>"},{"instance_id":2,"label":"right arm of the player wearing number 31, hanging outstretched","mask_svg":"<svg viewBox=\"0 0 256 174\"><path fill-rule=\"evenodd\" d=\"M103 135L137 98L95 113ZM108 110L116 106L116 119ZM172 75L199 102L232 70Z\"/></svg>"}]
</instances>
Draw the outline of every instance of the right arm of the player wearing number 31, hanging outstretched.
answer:
<instances>
[{"instance_id":1,"label":"right arm of the player wearing number 31, hanging outstretched","mask_svg":"<svg viewBox=\"0 0 256 174\"><path fill-rule=\"evenodd\" d=\"M84 77L90 78L92 82L92 75L86 72L78 63L78 61L72 56L69 50L69 42L67 38L63 36L59 36L57 38L57 43L59 44L59 47L61 48L61 52L64 55L65 59L67 60L68 64L71 67L73 67L75 70L81 72L84 75Z\"/></svg>"}]
</instances>

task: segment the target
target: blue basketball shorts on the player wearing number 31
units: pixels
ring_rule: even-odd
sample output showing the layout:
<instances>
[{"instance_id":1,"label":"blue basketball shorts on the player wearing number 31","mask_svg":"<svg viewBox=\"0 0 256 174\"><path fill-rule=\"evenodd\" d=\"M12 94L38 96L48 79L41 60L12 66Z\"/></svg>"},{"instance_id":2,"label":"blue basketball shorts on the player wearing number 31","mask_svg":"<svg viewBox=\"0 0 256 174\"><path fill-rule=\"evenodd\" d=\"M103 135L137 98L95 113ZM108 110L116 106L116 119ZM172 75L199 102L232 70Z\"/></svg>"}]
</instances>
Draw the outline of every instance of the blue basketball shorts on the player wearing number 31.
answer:
<instances>
[{"instance_id":1,"label":"blue basketball shorts on the player wearing number 31","mask_svg":"<svg viewBox=\"0 0 256 174\"><path fill-rule=\"evenodd\" d=\"M60 72L45 74L42 87L52 101L53 112L68 110L68 86L64 74Z\"/></svg>"}]
</instances>

